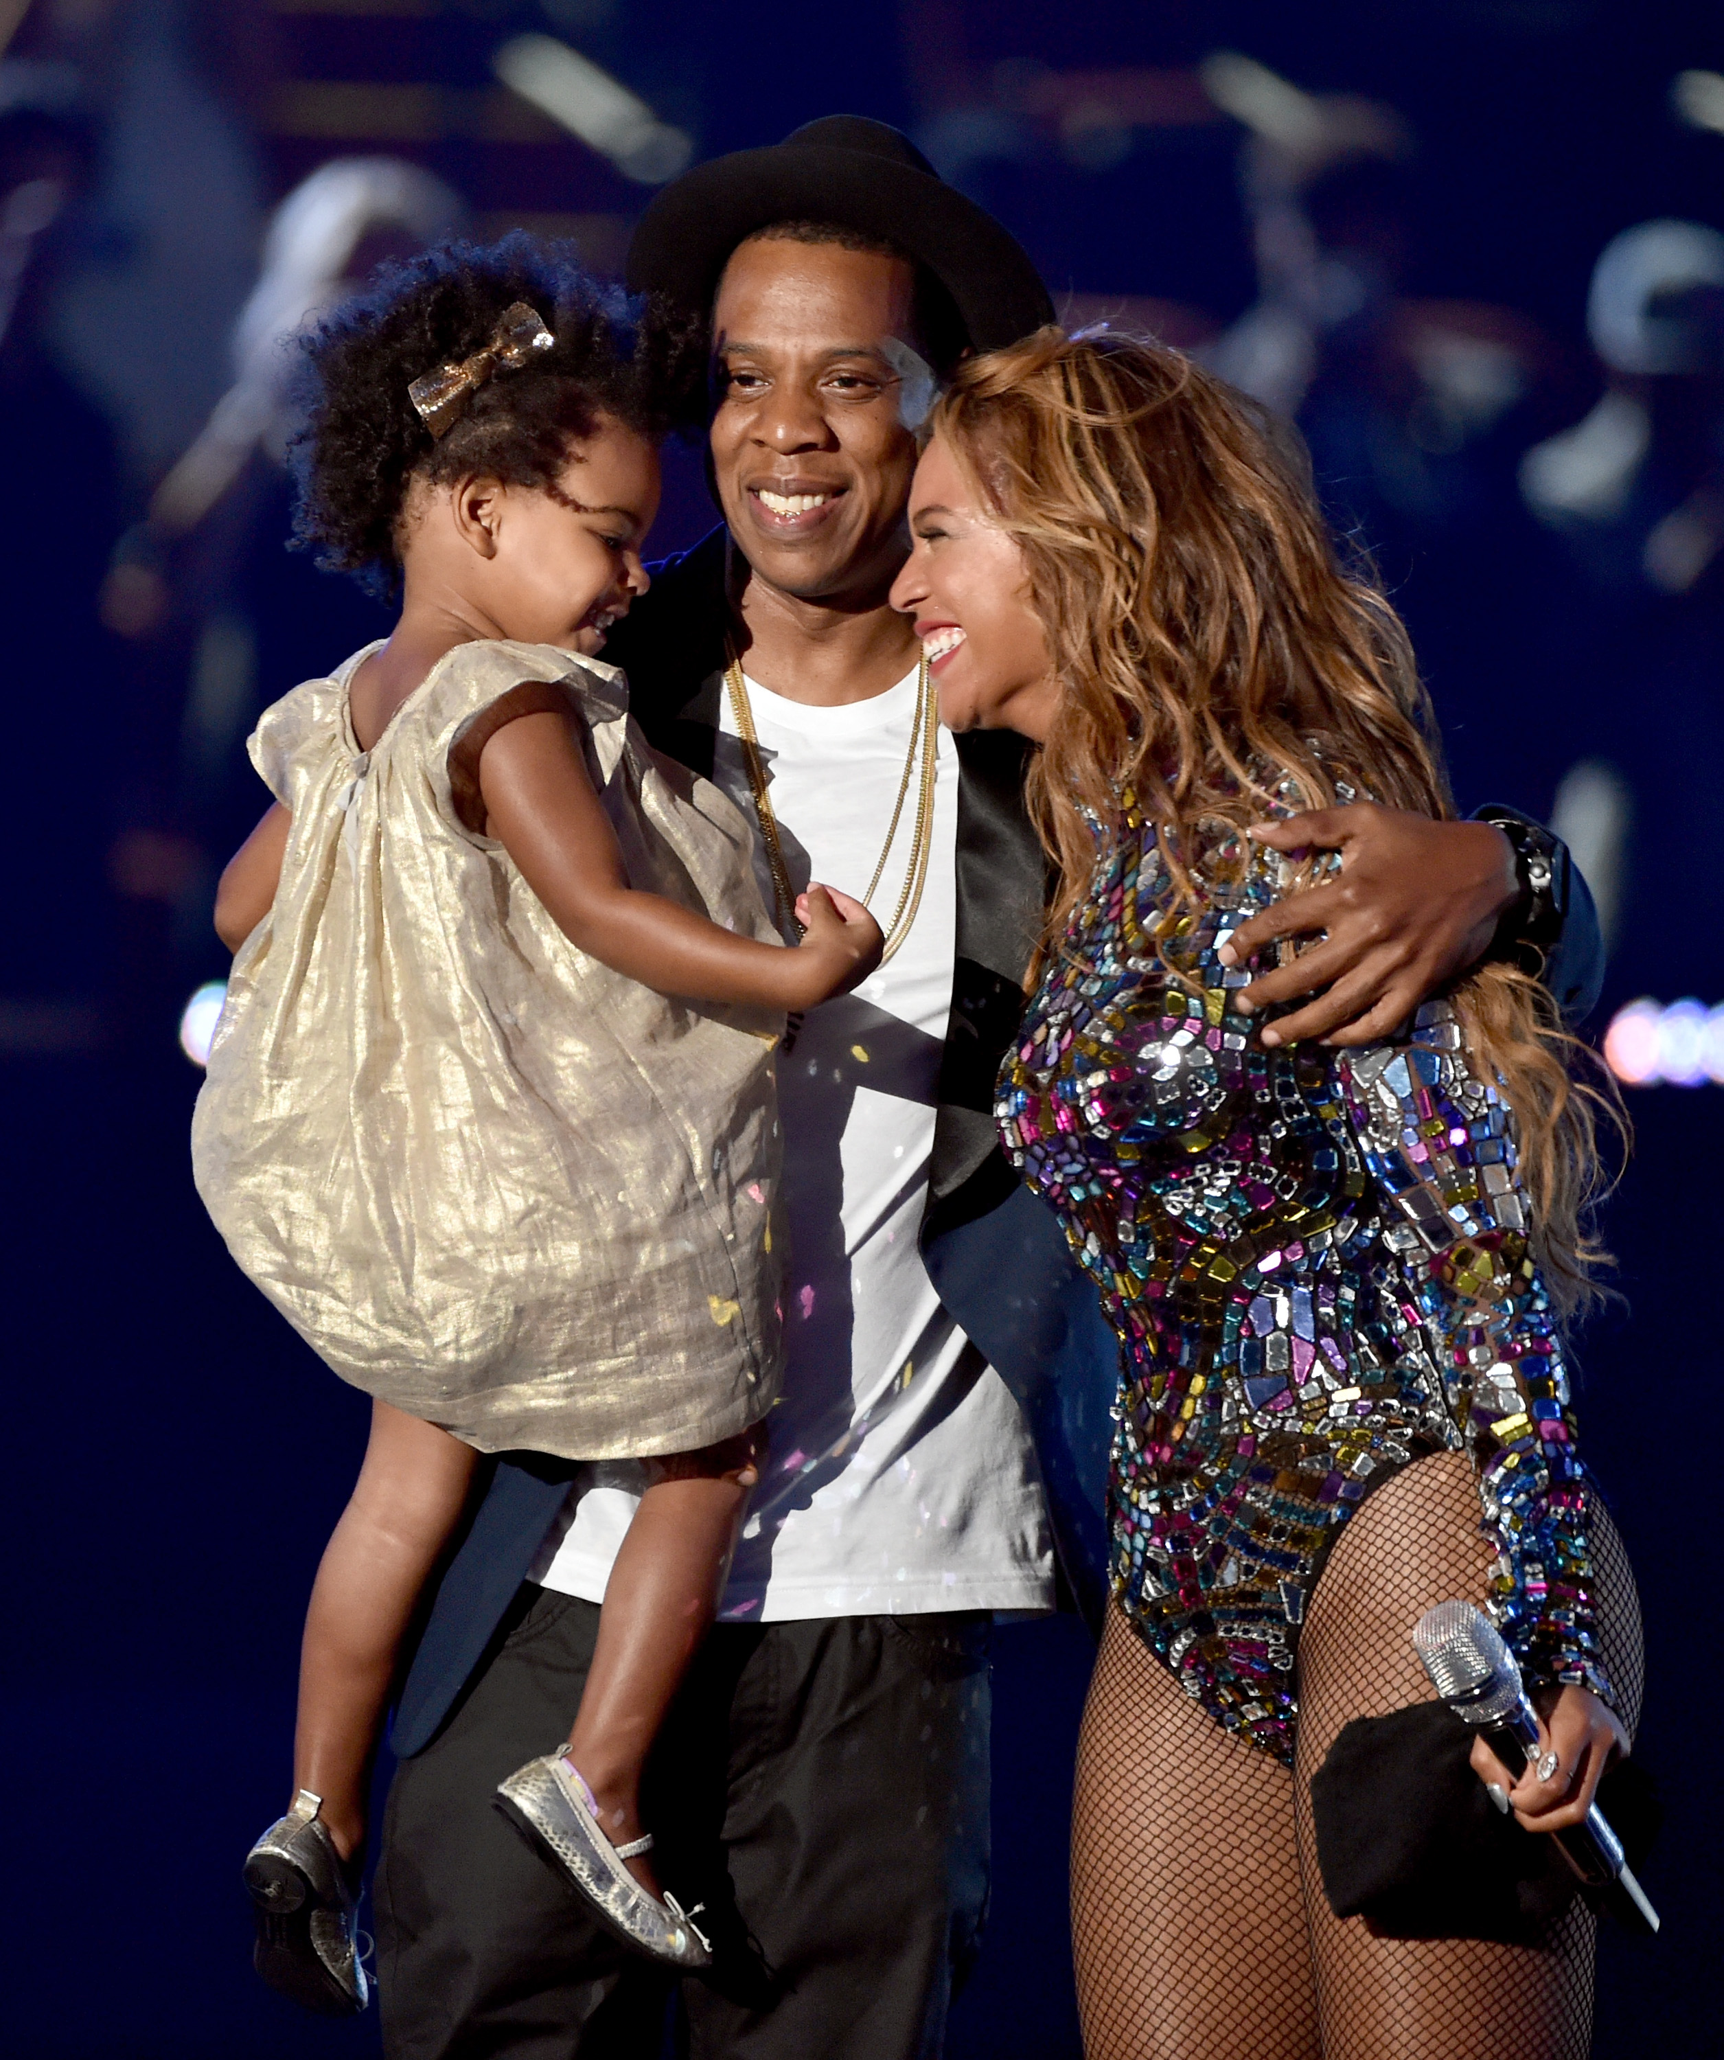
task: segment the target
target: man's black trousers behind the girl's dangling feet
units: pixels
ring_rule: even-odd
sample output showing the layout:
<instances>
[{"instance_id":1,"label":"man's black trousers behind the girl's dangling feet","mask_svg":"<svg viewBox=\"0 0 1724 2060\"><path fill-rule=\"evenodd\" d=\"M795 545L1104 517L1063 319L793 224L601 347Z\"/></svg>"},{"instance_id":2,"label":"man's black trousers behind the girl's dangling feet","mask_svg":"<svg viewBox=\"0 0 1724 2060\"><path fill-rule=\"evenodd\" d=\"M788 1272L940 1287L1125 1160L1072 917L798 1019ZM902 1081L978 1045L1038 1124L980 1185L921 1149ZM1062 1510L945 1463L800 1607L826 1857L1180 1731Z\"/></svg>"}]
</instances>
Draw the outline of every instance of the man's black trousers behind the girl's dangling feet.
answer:
<instances>
[{"instance_id":1,"label":"man's black trousers behind the girl's dangling feet","mask_svg":"<svg viewBox=\"0 0 1724 2060\"><path fill-rule=\"evenodd\" d=\"M575 1718L599 1611L525 1586L377 1868L389 2060L653 2060L667 1978L620 1949L490 1807ZM989 1885L987 1619L717 1625L653 1755L659 1875L704 1903L692 2060L925 2060Z\"/></svg>"}]
</instances>

